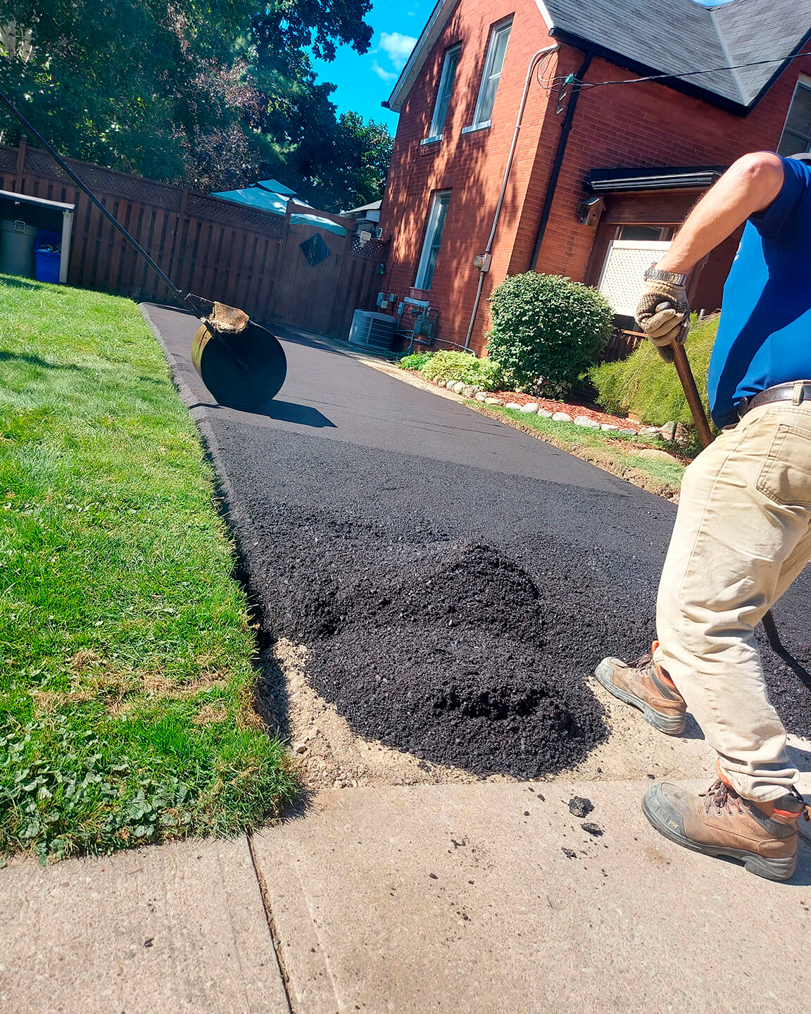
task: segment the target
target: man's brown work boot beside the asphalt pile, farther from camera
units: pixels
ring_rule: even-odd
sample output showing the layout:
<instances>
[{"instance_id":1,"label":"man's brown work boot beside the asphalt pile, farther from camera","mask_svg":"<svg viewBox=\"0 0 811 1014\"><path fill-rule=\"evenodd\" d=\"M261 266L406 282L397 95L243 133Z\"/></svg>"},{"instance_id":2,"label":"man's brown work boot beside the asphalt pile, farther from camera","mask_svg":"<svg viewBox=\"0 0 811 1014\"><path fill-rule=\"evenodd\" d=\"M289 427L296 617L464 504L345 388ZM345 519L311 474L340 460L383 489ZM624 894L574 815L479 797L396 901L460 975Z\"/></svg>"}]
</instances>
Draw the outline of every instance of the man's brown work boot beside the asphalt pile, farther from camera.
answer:
<instances>
[{"instance_id":1,"label":"man's brown work boot beside the asphalt pile, farther from camera","mask_svg":"<svg viewBox=\"0 0 811 1014\"><path fill-rule=\"evenodd\" d=\"M604 658L594 675L615 698L639 708L645 721L668 736L684 731L687 706L670 676L653 660L659 642L651 645L651 654L638 658L633 665L618 658Z\"/></svg>"}]
</instances>

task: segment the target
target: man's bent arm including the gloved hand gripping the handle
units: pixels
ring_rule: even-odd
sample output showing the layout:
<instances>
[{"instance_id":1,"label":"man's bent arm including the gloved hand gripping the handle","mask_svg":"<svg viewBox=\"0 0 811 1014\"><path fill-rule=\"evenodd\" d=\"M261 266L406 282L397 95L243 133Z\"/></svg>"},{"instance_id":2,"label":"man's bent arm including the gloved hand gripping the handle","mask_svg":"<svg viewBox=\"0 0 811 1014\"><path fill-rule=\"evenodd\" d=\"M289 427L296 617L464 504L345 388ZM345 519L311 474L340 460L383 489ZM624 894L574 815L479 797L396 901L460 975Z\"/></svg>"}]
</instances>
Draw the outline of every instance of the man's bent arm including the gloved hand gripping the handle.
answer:
<instances>
[{"instance_id":1,"label":"man's bent arm including the gloved hand gripping the handle","mask_svg":"<svg viewBox=\"0 0 811 1014\"><path fill-rule=\"evenodd\" d=\"M755 151L733 162L689 213L656 269L687 275L750 215L768 208L783 183L783 162L770 151ZM690 307L680 282L683 279L649 279L637 306L637 323L666 362L673 359L670 346L683 342L690 330Z\"/></svg>"}]
</instances>

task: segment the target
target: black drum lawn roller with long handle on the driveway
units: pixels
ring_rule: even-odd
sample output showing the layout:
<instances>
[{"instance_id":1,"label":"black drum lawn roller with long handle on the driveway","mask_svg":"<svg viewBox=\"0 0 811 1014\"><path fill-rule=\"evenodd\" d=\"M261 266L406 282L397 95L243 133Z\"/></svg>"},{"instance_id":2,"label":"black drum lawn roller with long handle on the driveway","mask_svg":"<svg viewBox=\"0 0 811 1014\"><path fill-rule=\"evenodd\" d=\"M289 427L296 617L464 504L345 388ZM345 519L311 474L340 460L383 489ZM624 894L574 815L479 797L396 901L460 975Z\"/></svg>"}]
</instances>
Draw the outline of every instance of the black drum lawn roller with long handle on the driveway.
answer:
<instances>
[{"instance_id":1,"label":"black drum lawn roller with long handle on the driveway","mask_svg":"<svg viewBox=\"0 0 811 1014\"><path fill-rule=\"evenodd\" d=\"M133 249L141 255L174 300L201 320L201 327L192 341L192 362L214 400L232 409L253 411L268 405L280 391L287 374L287 359L279 339L235 306L196 296L191 292L183 295L135 237L107 211L65 159L2 92L0 103L36 138L88 201L119 230Z\"/></svg>"}]
</instances>

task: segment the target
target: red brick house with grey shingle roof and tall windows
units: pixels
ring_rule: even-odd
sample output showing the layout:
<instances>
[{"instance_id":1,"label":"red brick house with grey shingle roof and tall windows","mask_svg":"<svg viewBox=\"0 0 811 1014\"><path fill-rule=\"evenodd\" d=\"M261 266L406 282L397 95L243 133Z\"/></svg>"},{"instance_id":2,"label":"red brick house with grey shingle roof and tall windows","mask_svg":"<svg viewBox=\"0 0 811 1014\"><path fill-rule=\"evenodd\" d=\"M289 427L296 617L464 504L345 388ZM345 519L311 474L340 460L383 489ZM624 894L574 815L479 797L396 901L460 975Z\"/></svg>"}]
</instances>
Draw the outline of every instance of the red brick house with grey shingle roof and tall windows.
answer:
<instances>
[{"instance_id":1,"label":"red brick house with grey shingle roof and tall windows","mask_svg":"<svg viewBox=\"0 0 811 1014\"><path fill-rule=\"evenodd\" d=\"M809 37L811 0L438 0L385 103L384 307L428 304L443 345L481 354L488 296L533 269L626 315L724 167L811 150ZM720 305L735 246L693 273L696 308Z\"/></svg>"}]
</instances>

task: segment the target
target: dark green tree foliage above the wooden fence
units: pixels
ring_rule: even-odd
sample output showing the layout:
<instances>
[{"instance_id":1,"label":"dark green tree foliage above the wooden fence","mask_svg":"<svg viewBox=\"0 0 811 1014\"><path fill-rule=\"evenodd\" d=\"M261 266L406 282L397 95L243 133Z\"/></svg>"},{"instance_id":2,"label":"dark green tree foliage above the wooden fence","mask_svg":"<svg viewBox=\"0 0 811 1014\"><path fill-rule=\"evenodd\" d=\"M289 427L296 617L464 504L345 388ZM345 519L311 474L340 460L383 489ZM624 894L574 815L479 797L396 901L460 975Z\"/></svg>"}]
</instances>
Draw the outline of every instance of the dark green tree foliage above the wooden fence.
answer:
<instances>
[{"instance_id":1,"label":"dark green tree foliage above the wooden fence","mask_svg":"<svg viewBox=\"0 0 811 1014\"><path fill-rule=\"evenodd\" d=\"M340 210L379 196L385 128L337 117L306 50L368 49L369 0L0 0L0 89L63 154L199 190L280 176ZM0 132L16 143L6 115Z\"/></svg>"}]
</instances>

